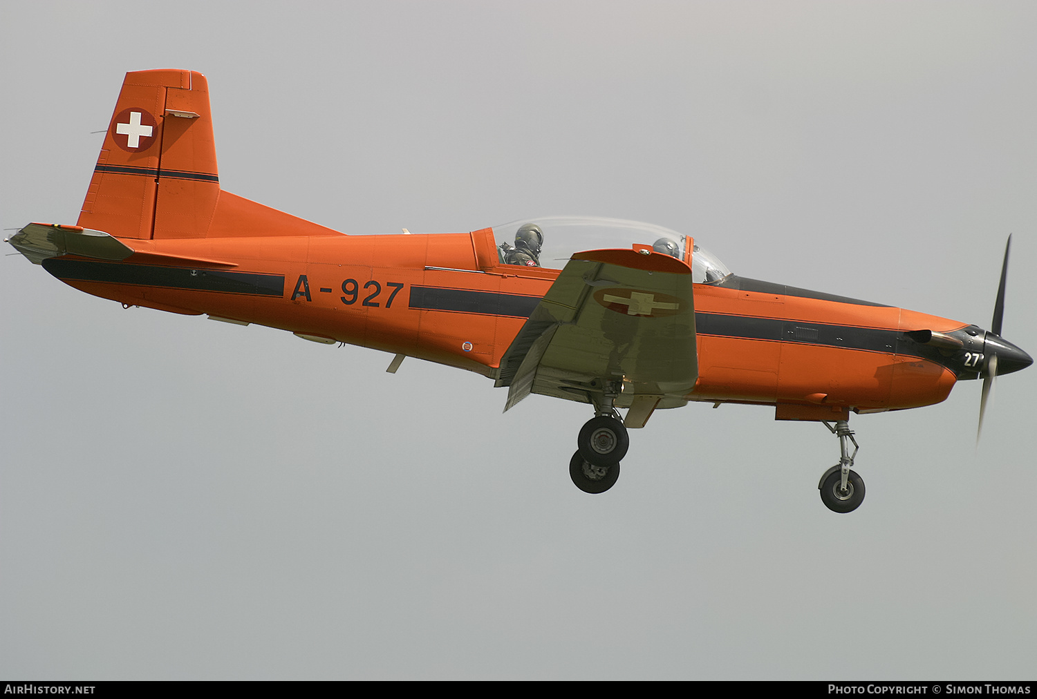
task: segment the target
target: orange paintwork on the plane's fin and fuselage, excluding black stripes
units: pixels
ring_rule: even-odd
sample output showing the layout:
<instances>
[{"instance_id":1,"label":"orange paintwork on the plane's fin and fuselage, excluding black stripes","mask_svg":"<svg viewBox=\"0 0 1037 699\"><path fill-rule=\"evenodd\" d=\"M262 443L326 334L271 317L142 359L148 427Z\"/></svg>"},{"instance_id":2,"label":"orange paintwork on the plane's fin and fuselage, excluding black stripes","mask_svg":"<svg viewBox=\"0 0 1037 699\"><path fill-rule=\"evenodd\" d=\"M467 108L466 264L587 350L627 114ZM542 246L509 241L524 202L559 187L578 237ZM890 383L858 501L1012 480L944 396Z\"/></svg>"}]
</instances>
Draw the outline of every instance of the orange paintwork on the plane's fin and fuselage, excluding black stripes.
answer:
<instances>
[{"instance_id":1,"label":"orange paintwork on the plane's fin and fuselage, excluding black stripes","mask_svg":"<svg viewBox=\"0 0 1037 699\"><path fill-rule=\"evenodd\" d=\"M117 281L117 274L63 281L125 304L258 323L494 376L525 317L412 308L409 294L429 287L538 297L559 270L500 264L491 229L347 236L223 192L207 89L197 72L128 74L78 225L135 251L121 262L94 263L101 276L110 271L105 265L190 269L192 275L232 270L283 275L283 293L174 288ZM136 148L134 137L120 130L143 134L148 127L136 125L137 117L121 121L127 110L156 121L149 134L136 137ZM683 264L642 247L661 270ZM604 260L609 252L595 255ZM393 290L398 295L390 304ZM948 331L965 325L897 308L710 285L695 286L694 302L699 314L859 328ZM928 405L943 401L955 382L949 369L898 356L892 346L861 350L701 328L697 342L699 379L688 400L789 406L779 418L838 419L848 410Z\"/></svg>"}]
</instances>

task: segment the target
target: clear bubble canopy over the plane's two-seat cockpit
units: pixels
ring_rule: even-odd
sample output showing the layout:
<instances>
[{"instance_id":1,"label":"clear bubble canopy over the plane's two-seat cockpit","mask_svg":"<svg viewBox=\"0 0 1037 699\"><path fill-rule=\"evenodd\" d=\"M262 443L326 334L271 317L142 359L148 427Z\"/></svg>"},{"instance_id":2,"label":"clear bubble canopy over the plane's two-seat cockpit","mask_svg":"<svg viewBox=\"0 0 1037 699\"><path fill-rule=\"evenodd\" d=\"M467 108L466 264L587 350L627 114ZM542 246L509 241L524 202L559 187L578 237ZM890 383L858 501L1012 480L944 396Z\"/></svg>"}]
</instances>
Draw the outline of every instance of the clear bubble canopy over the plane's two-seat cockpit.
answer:
<instances>
[{"instance_id":1,"label":"clear bubble canopy over the plane's two-seat cockpit","mask_svg":"<svg viewBox=\"0 0 1037 699\"><path fill-rule=\"evenodd\" d=\"M505 251L515 244L515 232L530 224L535 224L543 234L539 255L541 267L561 269L573 253L629 249L635 244L651 245L655 252L688 261L688 244L691 242L692 281L695 284L712 284L731 273L723 262L695 244L692 238L669 228L597 216L542 216L494 226L494 239L498 244L501 262L506 261Z\"/></svg>"}]
</instances>

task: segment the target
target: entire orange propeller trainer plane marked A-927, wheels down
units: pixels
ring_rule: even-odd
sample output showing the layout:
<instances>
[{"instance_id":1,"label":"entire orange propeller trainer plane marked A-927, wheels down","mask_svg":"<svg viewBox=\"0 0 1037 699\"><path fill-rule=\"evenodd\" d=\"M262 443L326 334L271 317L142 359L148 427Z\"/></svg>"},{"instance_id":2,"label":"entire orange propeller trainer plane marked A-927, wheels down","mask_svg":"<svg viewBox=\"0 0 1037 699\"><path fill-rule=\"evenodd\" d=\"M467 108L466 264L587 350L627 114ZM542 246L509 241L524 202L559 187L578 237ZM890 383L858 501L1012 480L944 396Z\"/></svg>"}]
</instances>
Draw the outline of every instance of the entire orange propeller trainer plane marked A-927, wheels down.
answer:
<instances>
[{"instance_id":1,"label":"entire orange propeller trainer plane marked A-927, wheels down","mask_svg":"<svg viewBox=\"0 0 1037 699\"><path fill-rule=\"evenodd\" d=\"M732 274L689 236L609 219L534 219L470 233L344 235L220 188L205 78L130 72L75 226L9 242L62 282L125 307L207 314L320 343L477 372L592 406L569 462L608 490L627 430L689 401L773 405L838 436L821 499L850 512L851 412L917 408L958 379L1031 357L1001 338L1008 250L990 330ZM619 412L625 409L625 414ZM852 444L852 452L850 452Z\"/></svg>"}]
</instances>

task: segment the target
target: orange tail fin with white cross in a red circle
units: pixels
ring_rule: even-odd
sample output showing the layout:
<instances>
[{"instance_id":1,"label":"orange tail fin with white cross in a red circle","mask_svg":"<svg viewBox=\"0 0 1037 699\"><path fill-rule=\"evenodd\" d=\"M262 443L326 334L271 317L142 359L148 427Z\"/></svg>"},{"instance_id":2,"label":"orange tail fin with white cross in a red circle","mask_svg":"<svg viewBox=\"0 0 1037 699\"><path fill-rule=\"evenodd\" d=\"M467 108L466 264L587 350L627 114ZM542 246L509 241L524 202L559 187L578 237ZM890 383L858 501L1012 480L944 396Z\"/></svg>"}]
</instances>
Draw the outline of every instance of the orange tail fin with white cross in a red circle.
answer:
<instances>
[{"instance_id":1,"label":"orange tail fin with white cross in a red circle","mask_svg":"<svg viewBox=\"0 0 1037 699\"><path fill-rule=\"evenodd\" d=\"M220 190L208 82L128 72L78 225L117 238L334 235Z\"/></svg>"}]
</instances>

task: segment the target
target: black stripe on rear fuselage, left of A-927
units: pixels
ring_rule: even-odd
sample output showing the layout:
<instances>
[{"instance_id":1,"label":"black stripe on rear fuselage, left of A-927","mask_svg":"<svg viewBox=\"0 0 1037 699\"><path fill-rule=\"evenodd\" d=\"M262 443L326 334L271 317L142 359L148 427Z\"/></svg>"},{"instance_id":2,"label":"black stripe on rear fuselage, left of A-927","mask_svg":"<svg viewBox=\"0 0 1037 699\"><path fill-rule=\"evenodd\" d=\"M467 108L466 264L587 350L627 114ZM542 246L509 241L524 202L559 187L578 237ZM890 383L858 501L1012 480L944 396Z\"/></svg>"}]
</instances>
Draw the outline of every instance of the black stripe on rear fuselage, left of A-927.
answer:
<instances>
[{"instance_id":1,"label":"black stripe on rear fuselage, left of A-927","mask_svg":"<svg viewBox=\"0 0 1037 699\"><path fill-rule=\"evenodd\" d=\"M43 265L44 269L51 274L65 281L132 284L253 296L284 296L283 274L258 274L225 269L157 267L62 258L44 260Z\"/></svg>"}]
</instances>

